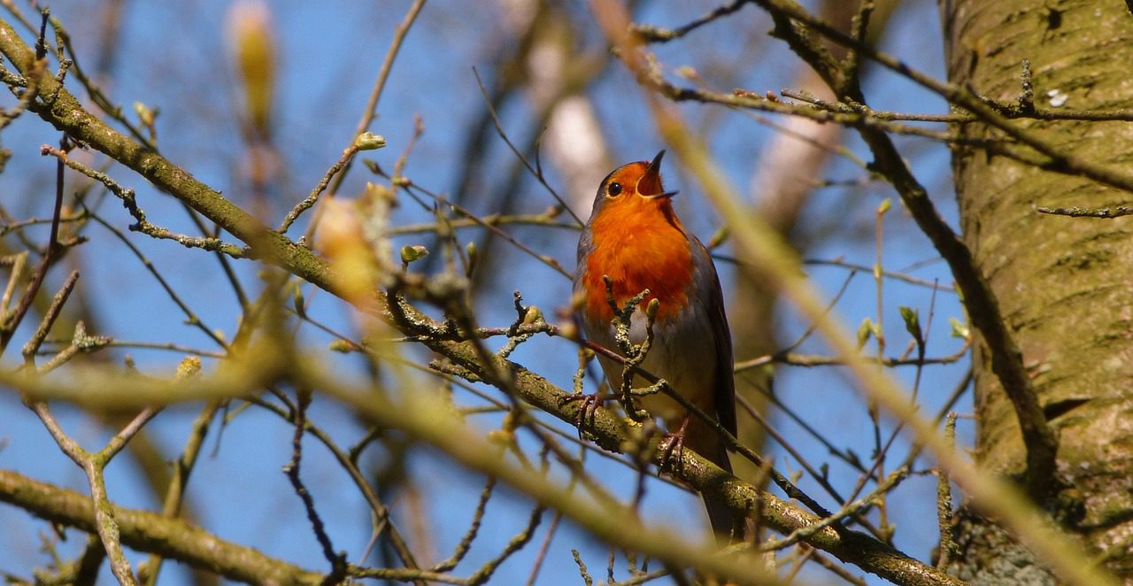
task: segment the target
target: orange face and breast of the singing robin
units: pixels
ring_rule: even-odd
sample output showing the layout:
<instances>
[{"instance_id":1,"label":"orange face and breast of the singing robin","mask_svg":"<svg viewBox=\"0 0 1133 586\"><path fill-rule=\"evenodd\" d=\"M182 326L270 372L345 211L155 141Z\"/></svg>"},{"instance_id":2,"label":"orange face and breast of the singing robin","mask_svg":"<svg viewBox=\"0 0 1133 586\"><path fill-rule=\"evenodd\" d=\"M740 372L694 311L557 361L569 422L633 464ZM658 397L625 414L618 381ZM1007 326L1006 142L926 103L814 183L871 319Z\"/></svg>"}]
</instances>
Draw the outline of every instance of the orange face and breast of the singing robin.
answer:
<instances>
[{"instance_id":1,"label":"orange face and breast of the singing robin","mask_svg":"<svg viewBox=\"0 0 1133 586\"><path fill-rule=\"evenodd\" d=\"M593 248L580 267L585 270L586 312L593 319L613 316L603 275L613 280L619 305L649 289L645 304L654 298L661 302L658 320L687 303L691 250L670 202L675 192L665 193L661 182L664 154L649 163L617 168L598 188L589 223Z\"/></svg>"}]
</instances>

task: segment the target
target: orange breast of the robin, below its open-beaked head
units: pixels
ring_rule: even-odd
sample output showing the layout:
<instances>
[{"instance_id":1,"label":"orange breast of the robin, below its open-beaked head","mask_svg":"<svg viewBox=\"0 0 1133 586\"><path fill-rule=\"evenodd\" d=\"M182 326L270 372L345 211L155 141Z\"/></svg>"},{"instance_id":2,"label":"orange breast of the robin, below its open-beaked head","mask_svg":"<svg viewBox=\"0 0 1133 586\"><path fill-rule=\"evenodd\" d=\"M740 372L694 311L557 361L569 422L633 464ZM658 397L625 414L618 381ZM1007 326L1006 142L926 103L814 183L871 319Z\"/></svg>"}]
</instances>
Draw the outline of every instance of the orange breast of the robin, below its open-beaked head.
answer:
<instances>
[{"instance_id":1,"label":"orange breast of the robin, below its open-beaked head","mask_svg":"<svg viewBox=\"0 0 1133 586\"><path fill-rule=\"evenodd\" d=\"M587 317L610 321L614 315L606 300L604 274L613 280L614 300L619 306L649 289L641 307L658 299L658 320L673 315L688 303L692 254L667 201L659 205L658 202L641 202L605 210L590 228L594 249L586 260L582 275Z\"/></svg>"}]
</instances>

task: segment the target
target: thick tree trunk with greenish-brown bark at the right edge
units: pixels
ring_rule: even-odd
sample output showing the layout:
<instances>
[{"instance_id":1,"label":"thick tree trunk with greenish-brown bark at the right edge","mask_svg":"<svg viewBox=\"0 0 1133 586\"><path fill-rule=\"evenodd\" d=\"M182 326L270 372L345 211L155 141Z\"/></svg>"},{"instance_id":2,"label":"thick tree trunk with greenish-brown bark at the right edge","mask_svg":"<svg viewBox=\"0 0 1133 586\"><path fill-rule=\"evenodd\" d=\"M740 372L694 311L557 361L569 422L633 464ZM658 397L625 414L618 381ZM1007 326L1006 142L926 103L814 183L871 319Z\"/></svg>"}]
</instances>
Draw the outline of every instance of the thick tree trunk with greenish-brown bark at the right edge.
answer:
<instances>
[{"instance_id":1,"label":"thick tree trunk with greenish-brown bark at the right edge","mask_svg":"<svg viewBox=\"0 0 1133 586\"><path fill-rule=\"evenodd\" d=\"M1039 109L1133 107L1127 63L1133 17L1121 2L942 0L949 80L985 97L1016 102L1030 60ZM1127 122L1020 120L1075 158L1113 169L1128 164ZM965 136L999 136L966 125ZM1093 181L990 156L953 151L963 238L997 296L1023 353L1043 413L1059 439L1058 473L1073 489L1043 503L1092 557L1133 579L1133 241L1130 220L1043 215L1037 206L1127 203L1130 194ZM977 460L989 472L1024 467L1019 422L989 357L974 354ZM964 549L954 570L983 583L1049 581L1041 563L1012 545L990 517L966 510Z\"/></svg>"}]
</instances>

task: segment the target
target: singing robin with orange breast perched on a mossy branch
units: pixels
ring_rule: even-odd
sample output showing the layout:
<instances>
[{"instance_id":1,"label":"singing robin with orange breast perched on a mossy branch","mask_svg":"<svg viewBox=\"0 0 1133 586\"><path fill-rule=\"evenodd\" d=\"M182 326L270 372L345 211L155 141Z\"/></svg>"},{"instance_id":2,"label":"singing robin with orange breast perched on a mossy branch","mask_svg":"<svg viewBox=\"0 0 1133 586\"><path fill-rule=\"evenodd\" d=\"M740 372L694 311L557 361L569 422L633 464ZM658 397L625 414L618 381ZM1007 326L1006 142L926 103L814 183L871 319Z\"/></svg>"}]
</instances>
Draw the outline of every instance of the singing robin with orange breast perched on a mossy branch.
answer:
<instances>
[{"instance_id":1,"label":"singing robin with orange breast perched on a mossy branch","mask_svg":"<svg viewBox=\"0 0 1133 586\"><path fill-rule=\"evenodd\" d=\"M732 337L724 315L716 267L696 236L673 211L661 182L661 160L638 161L615 169L602 180L590 220L578 241L574 295L581 304L582 331L593 342L617 349L611 320L606 278L619 307L648 289L631 319L630 338L646 337L642 308L653 299L654 340L641 367L664 379L690 402L735 434L735 388L732 379ZM611 385L622 380L623 366L599 356ZM634 388L647 383L636 379ZM664 393L640 397L650 415L659 417L673 438L668 445L688 447L732 472L724 441L712 426ZM705 495L713 532L727 538L733 527L729 507Z\"/></svg>"}]
</instances>

